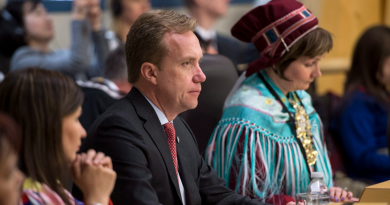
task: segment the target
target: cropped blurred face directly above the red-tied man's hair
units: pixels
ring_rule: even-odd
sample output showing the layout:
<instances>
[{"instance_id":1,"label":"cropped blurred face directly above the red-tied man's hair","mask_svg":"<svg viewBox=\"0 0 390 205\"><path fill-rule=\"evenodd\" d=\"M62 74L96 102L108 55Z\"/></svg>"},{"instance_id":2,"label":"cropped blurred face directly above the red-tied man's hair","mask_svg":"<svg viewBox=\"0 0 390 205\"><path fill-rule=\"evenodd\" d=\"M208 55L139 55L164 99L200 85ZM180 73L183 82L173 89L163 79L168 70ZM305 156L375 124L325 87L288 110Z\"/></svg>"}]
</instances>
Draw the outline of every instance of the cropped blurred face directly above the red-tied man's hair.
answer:
<instances>
[{"instance_id":1,"label":"cropped blurred face directly above the red-tied man's hair","mask_svg":"<svg viewBox=\"0 0 390 205\"><path fill-rule=\"evenodd\" d=\"M122 0L122 17L131 25L137 20L138 16L149 10L149 0Z\"/></svg>"}]
</instances>

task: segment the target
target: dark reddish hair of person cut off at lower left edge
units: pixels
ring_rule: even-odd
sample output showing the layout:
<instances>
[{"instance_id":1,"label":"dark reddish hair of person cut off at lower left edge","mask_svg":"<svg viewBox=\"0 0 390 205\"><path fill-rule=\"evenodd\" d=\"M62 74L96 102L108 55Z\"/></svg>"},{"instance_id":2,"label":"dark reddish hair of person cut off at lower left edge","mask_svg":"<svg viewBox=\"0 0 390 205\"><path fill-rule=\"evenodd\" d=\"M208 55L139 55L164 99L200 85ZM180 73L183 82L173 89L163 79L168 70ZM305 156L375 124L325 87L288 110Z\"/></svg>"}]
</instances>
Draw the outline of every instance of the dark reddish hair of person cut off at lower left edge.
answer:
<instances>
[{"instance_id":1,"label":"dark reddish hair of person cut off at lower left edge","mask_svg":"<svg viewBox=\"0 0 390 205\"><path fill-rule=\"evenodd\" d=\"M0 162L7 157L10 151L18 153L20 150L21 133L13 119L0 112Z\"/></svg>"}]
</instances>

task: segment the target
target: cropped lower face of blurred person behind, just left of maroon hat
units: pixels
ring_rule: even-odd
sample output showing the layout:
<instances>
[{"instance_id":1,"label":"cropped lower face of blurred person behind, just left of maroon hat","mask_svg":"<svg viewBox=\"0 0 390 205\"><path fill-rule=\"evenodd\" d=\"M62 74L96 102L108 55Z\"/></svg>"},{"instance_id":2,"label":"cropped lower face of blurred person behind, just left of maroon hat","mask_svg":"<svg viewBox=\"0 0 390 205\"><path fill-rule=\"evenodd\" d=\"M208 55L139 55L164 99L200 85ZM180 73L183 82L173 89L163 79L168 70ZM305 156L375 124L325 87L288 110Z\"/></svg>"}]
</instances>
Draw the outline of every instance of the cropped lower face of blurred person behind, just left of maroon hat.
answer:
<instances>
[{"instance_id":1,"label":"cropped lower face of blurred person behind, just left of maroon hat","mask_svg":"<svg viewBox=\"0 0 390 205\"><path fill-rule=\"evenodd\" d=\"M198 0L197 5L215 18L226 14L230 0Z\"/></svg>"}]
</instances>

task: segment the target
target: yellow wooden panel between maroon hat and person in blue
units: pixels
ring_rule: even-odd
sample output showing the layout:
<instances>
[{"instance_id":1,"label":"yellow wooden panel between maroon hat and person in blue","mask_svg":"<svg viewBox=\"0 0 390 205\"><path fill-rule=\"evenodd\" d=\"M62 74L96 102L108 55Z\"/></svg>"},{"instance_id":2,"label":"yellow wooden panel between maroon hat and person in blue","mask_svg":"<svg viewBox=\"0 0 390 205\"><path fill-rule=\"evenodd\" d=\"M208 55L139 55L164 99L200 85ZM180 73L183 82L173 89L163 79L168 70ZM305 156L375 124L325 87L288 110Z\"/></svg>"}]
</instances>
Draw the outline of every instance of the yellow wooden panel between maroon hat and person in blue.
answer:
<instances>
[{"instance_id":1,"label":"yellow wooden panel between maroon hat and person in blue","mask_svg":"<svg viewBox=\"0 0 390 205\"><path fill-rule=\"evenodd\" d=\"M319 19L320 27L334 35L334 47L321 63L323 76L317 80L317 93L343 93L345 72L360 35L369 27L387 21L390 0L301 0ZM386 9L388 7L388 9ZM386 13L384 13L386 12Z\"/></svg>"}]
</instances>

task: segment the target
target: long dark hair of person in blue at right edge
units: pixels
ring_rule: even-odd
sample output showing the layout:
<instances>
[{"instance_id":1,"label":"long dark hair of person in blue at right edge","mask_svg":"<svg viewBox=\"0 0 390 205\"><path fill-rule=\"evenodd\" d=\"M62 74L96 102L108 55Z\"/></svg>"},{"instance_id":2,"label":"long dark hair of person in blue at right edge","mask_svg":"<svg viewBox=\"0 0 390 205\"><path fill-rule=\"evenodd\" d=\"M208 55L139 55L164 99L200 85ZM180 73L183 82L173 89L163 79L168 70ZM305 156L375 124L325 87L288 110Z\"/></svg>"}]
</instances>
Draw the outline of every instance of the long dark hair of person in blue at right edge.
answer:
<instances>
[{"instance_id":1,"label":"long dark hair of person in blue at right edge","mask_svg":"<svg viewBox=\"0 0 390 205\"><path fill-rule=\"evenodd\" d=\"M348 95L363 86L368 94L385 103L386 88L378 80L383 63L390 57L390 28L375 26L368 29L358 40L352 58L351 69L344 86Z\"/></svg>"}]
</instances>

